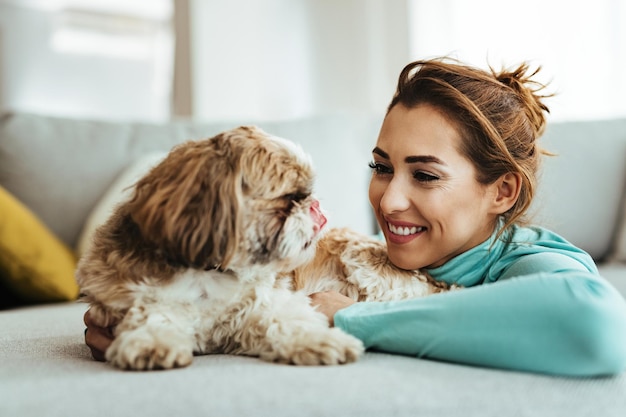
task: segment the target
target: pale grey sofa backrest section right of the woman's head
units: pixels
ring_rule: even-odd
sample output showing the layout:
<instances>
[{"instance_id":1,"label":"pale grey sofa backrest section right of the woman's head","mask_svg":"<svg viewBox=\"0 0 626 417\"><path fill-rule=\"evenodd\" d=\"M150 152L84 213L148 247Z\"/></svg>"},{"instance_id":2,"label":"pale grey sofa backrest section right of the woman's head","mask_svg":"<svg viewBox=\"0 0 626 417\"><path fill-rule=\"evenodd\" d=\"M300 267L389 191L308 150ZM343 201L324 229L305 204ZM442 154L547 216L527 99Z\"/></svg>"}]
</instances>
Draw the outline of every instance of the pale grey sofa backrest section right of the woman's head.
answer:
<instances>
[{"instance_id":1,"label":"pale grey sofa backrest section right of the woman's head","mask_svg":"<svg viewBox=\"0 0 626 417\"><path fill-rule=\"evenodd\" d=\"M549 124L536 220L594 259L609 255L626 193L626 119Z\"/></svg>"}]
</instances>

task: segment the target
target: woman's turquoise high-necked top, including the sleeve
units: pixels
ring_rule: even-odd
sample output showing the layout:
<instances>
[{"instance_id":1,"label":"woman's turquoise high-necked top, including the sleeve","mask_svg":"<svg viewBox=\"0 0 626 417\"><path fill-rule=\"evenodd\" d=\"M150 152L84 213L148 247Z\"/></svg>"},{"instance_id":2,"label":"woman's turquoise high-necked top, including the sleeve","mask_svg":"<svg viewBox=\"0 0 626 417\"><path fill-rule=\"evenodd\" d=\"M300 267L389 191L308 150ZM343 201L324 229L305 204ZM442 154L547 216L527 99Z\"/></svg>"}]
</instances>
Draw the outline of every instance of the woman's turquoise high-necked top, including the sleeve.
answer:
<instances>
[{"instance_id":1,"label":"woman's turquoise high-necked top, including the sleeve","mask_svg":"<svg viewBox=\"0 0 626 417\"><path fill-rule=\"evenodd\" d=\"M369 349L470 365L594 376L626 367L626 301L562 237L514 226L428 270L464 288L363 302L335 326Z\"/></svg>"}]
</instances>

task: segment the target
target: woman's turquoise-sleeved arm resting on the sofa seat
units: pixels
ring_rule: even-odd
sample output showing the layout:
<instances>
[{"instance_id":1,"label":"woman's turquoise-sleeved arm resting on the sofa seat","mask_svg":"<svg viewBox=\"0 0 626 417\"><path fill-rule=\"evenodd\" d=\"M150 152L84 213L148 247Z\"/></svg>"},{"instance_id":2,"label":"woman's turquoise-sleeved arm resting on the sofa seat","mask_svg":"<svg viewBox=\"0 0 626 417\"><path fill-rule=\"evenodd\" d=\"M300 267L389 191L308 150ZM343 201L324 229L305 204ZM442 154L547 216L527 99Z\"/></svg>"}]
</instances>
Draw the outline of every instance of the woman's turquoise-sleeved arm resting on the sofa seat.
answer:
<instances>
[{"instance_id":1,"label":"woman's turquoise-sleeved arm resting on the sofa seat","mask_svg":"<svg viewBox=\"0 0 626 417\"><path fill-rule=\"evenodd\" d=\"M367 348L423 358L576 376L626 367L626 303L581 270L357 303L338 311L334 323Z\"/></svg>"}]
</instances>

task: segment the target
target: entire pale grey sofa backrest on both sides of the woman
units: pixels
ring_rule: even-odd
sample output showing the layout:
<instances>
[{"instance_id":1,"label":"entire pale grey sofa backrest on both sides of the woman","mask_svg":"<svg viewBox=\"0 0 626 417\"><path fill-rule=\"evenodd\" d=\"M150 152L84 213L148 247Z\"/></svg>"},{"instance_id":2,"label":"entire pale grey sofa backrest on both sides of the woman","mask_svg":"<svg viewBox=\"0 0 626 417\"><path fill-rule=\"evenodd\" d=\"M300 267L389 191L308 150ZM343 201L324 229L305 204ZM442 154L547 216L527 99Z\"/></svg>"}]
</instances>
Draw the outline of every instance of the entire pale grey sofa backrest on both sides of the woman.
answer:
<instances>
[{"instance_id":1,"label":"entire pale grey sofa backrest on both sides of the woman","mask_svg":"<svg viewBox=\"0 0 626 417\"><path fill-rule=\"evenodd\" d=\"M317 194L331 226L375 230L367 197L368 161L382 116L340 114L259 123L300 143L317 168ZM0 186L75 247L85 219L137 158L246 121L164 125L68 120L30 114L0 118ZM536 223L602 259L609 251L626 189L626 119L549 124L531 212Z\"/></svg>"}]
</instances>

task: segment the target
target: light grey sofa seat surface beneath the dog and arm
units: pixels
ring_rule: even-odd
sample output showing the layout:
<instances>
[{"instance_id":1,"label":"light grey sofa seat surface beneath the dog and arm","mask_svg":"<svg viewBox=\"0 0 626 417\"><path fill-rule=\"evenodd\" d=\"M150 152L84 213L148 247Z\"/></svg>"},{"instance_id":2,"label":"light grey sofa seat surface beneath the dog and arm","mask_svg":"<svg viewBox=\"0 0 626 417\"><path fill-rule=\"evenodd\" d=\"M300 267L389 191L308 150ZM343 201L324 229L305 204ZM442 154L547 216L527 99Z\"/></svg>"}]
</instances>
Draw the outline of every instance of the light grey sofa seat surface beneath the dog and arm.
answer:
<instances>
[{"instance_id":1,"label":"light grey sofa seat surface beneath the dog and arm","mask_svg":"<svg viewBox=\"0 0 626 417\"><path fill-rule=\"evenodd\" d=\"M381 353L335 367L214 355L185 369L123 372L90 359L84 310L62 304L0 312L0 415L626 415L626 375L555 378Z\"/></svg>"}]
</instances>

